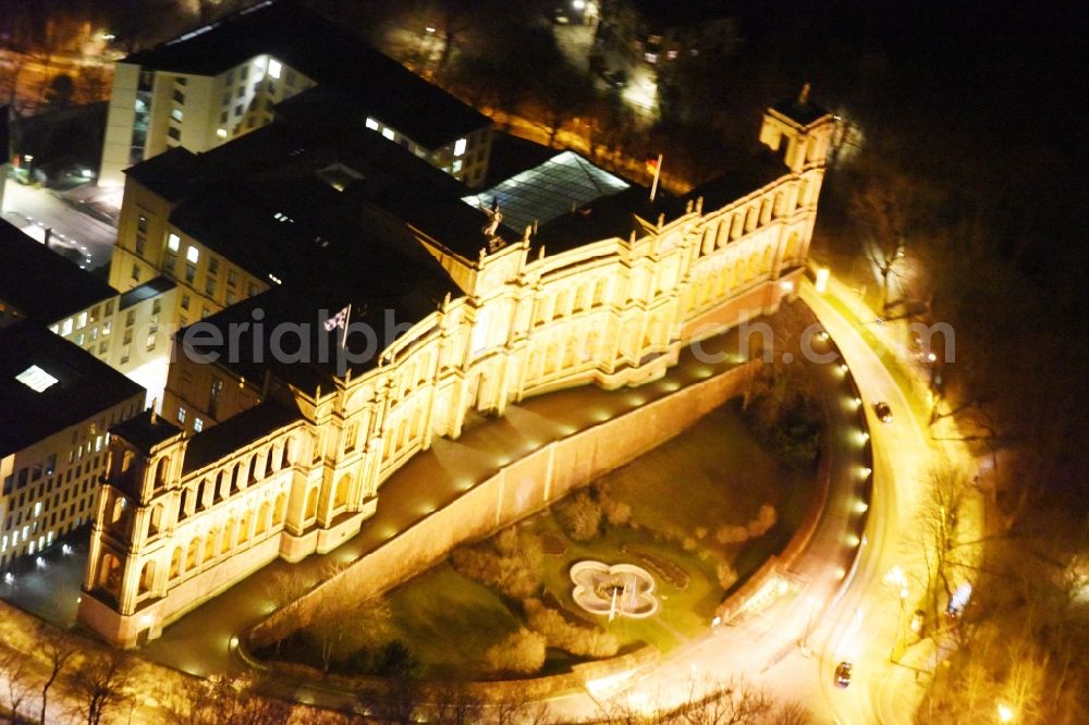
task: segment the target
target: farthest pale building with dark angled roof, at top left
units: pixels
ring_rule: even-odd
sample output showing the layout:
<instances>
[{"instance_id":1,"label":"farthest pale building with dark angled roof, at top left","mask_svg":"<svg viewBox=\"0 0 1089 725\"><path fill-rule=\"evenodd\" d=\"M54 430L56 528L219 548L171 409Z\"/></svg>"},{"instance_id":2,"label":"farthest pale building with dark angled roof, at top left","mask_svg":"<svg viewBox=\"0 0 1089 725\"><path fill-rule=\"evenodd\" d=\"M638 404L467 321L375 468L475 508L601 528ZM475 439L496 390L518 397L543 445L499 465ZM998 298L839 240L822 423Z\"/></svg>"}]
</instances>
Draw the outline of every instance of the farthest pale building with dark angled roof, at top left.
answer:
<instances>
[{"instance_id":1,"label":"farthest pale building with dark angled roof, at top left","mask_svg":"<svg viewBox=\"0 0 1089 725\"><path fill-rule=\"evenodd\" d=\"M201 152L295 113L351 118L470 186L484 182L491 121L362 40L268 0L114 70L99 185L171 148Z\"/></svg>"}]
</instances>

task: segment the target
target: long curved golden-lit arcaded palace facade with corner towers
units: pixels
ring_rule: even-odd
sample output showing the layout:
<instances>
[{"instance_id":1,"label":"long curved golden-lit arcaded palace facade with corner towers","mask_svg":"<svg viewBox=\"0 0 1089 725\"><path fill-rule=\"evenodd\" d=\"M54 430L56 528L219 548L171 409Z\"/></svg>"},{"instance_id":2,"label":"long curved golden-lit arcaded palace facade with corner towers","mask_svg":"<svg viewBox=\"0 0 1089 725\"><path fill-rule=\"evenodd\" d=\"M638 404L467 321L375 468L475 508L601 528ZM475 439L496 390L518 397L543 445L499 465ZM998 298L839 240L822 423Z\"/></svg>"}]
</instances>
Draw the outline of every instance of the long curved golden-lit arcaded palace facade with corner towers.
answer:
<instances>
[{"instance_id":1,"label":"long curved golden-lit arcaded palace facade with corner towers","mask_svg":"<svg viewBox=\"0 0 1089 725\"><path fill-rule=\"evenodd\" d=\"M114 427L81 619L122 647L155 638L276 557L328 552L358 532L382 481L436 437L457 438L470 411L651 381L692 341L774 311L804 273L831 135L830 115L792 111L802 108L764 115L778 179L713 209L696 189L669 220L631 213L625 236L553 254L526 230L480 236L469 255L409 221L461 292L370 368L281 386L196 434L151 411ZM179 359L171 378L186 366L213 368Z\"/></svg>"}]
</instances>

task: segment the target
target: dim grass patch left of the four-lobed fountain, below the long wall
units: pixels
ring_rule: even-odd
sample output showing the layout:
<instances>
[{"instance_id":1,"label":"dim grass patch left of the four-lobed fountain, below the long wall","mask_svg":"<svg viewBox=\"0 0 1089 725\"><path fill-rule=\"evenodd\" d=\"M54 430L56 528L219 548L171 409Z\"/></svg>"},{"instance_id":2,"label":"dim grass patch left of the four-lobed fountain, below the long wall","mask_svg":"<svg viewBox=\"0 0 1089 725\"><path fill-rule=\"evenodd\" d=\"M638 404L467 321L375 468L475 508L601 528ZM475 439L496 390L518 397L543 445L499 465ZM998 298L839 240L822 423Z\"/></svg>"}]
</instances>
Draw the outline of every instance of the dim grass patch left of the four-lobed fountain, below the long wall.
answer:
<instances>
[{"instance_id":1,"label":"dim grass patch left of the four-lobed fountain, below the long wall","mask_svg":"<svg viewBox=\"0 0 1089 725\"><path fill-rule=\"evenodd\" d=\"M435 566L388 595L390 639L400 639L431 676L465 674L521 623L503 598L454 572Z\"/></svg>"}]
</instances>

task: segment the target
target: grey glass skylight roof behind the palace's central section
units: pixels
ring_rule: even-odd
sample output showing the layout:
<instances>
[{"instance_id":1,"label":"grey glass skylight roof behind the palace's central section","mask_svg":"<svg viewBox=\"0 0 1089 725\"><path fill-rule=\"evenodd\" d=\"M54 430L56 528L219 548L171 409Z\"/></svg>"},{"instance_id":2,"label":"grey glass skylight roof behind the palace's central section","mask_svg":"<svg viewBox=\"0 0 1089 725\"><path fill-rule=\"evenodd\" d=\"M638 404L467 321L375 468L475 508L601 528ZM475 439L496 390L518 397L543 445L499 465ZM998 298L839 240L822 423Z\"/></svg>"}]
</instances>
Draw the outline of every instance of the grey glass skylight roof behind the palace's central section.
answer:
<instances>
[{"instance_id":1,"label":"grey glass skylight roof behind the palace's central section","mask_svg":"<svg viewBox=\"0 0 1089 725\"><path fill-rule=\"evenodd\" d=\"M623 192L627 182L599 169L572 151L511 176L489 189L462 197L478 209L498 200L503 223L521 233L535 221L548 223L602 196Z\"/></svg>"}]
</instances>

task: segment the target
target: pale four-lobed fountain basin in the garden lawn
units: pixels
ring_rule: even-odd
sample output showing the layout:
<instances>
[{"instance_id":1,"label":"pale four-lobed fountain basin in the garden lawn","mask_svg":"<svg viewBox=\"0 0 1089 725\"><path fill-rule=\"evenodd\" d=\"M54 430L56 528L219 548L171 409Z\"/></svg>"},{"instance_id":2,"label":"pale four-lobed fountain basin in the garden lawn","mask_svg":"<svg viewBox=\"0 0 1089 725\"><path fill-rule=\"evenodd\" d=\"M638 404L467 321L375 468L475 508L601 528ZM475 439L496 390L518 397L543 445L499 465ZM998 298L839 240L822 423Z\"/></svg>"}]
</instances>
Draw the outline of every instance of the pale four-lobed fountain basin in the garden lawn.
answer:
<instances>
[{"instance_id":1,"label":"pale four-lobed fountain basin in the garden lawn","mask_svg":"<svg viewBox=\"0 0 1089 725\"><path fill-rule=\"evenodd\" d=\"M583 561L571 567L575 585L572 599L590 614L644 619L658 613L661 602L654 595L657 585L650 574L634 564Z\"/></svg>"}]
</instances>

